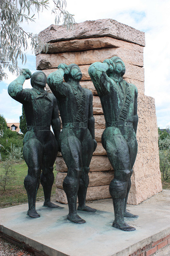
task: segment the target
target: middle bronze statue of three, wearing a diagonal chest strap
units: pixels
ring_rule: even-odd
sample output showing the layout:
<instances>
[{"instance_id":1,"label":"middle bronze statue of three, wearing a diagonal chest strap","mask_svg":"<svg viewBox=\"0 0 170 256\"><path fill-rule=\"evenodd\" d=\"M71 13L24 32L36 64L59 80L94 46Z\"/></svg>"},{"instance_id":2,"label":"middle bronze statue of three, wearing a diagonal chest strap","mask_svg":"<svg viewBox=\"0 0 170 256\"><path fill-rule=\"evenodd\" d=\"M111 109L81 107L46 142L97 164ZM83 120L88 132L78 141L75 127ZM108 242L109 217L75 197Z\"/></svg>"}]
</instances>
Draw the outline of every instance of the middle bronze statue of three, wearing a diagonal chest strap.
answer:
<instances>
[{"instance_id":1,"label":"middle bronze statue of three, wearing a diagonal chest strap","mask_svg":"<svg viewBox=\"0 0 170 256\"><path fill-rule=\"evenodd\" d=\"M63 77L65 82L63 82ZM47 84L57 98L63 129L59 144L63 159L68 168L63 181L67 195L68 220L85 223L77 215L77 210L95 212L85 205L89 184L89 165L96 149L95 120L93 117L93 95L80 86L82 73L76 64L60 64L58 70L49 74ZM77 196L79 205L76 207Z\"/></svg>"}]
</instances>

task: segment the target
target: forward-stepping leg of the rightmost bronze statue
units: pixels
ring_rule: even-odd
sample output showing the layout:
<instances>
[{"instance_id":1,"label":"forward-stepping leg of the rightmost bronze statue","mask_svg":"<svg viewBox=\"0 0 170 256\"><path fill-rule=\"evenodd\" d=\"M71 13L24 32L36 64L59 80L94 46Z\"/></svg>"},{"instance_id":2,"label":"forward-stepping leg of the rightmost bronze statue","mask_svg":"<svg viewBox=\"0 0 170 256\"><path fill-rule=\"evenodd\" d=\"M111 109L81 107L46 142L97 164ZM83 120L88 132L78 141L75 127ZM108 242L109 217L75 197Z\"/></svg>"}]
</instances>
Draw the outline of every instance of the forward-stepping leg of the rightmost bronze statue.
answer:
<instances>
[{"instance_id":1,"label":"forward-stepping leg of the rightmost bronze statue","mask_svg":"<svg viewBox=\"0 0 170 256\"><path fill-rule=\"evenodd\" d=\"M102 144L115 170L114 179L109 186L115 213L113 227L124 231L133 231L135 228L124 221L125 196L130 177L130 159L127 143L118 128L108 127L103 133Z\"/></svg>"}]
</instances>

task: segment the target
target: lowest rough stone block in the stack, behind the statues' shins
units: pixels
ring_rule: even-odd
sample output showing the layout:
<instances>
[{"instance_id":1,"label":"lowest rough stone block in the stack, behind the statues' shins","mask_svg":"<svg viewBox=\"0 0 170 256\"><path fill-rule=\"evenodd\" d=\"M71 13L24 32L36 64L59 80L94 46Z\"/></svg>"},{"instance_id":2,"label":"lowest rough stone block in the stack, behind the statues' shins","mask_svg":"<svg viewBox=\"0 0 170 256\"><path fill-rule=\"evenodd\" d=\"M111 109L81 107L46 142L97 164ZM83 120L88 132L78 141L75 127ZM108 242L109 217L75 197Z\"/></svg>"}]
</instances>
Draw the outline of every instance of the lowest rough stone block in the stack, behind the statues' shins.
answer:
<instances>
[{"instance_id":1,"label":"lowest rough stone block in the stack, behind the statues' shins","mask_svg":"<svg viewBox=\"0 0 170 256\"><path fill-rule=\"evenodd\" d=\"M106 186L97 186L87 188L86 201L93 201L97 199L110 198L109 185ZM67 197L63 189L56 189L56 201L67 204ZM77 200L78 202L78 200Z\"/></svg>"}]
</instances>

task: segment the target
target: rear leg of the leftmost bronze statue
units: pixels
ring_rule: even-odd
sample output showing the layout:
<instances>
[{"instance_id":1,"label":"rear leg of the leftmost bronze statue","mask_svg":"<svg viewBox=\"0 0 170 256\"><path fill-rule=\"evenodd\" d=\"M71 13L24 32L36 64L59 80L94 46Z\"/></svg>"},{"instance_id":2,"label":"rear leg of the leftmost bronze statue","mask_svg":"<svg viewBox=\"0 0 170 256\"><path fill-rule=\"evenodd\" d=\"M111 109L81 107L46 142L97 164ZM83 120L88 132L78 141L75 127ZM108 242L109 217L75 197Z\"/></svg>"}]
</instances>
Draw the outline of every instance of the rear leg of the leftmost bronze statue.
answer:
<instances>
[{"instance_id":1,"label":"rear leg of the leftmost bronze statue","mask_svg":"<svg viewBox=\"0 0 170 256\"><path fill-rule=\"evenodd\" d=\"M43 186L44 204L50 208L59 207L56 204L51 203L51 189L54 183L53 165L57 157L58 145L53 133L49 136L49 141L44 145L44 154L42 160L42 174L40 176L40 182Z\"/></svg>"}]
</instances>

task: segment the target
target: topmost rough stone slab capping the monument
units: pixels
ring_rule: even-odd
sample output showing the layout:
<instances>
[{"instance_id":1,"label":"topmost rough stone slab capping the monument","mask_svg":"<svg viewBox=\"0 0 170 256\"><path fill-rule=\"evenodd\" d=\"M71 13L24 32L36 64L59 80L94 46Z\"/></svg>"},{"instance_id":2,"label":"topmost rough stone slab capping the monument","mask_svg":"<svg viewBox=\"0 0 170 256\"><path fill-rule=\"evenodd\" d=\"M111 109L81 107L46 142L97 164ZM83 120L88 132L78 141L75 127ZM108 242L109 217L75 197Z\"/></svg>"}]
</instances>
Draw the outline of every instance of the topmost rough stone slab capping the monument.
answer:
<instances>
[{"instance_id":1,"label":"topmost rough stone slab capping the monument","mask_svg":"<svg viewBox=\"0 0 170 256\"><path fill-rule=\"evenodd\" d=\"M112 19L87 20L69 31L63 26L50 25L39 36L44 42L109 36L145 46L144 32Z\"/></svg>"}]
</instances>

